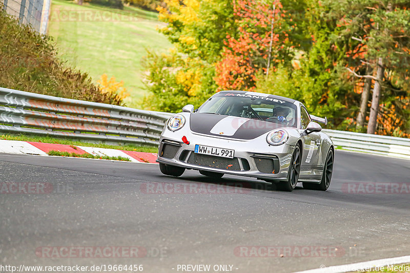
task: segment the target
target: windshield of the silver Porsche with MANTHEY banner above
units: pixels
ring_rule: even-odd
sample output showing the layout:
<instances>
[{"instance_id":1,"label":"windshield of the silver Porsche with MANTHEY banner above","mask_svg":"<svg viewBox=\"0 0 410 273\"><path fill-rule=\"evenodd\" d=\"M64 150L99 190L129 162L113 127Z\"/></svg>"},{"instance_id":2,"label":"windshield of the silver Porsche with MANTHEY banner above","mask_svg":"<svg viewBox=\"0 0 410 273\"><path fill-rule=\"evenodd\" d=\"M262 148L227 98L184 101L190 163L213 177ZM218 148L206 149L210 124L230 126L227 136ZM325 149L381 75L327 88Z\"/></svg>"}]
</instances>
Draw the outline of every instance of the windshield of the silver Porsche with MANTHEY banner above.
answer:
<instances>
[{"instance_id":1,"label":"windshield of the silver Porsche with MANTHEY banner above","mask_svg":"<svg viewBox=\"0 0 410 273\"><path fill-rule=\"evenodd\" d=\"M270 97L222 93L203 103L198 113L259 119L288 127L297 126L295 104Z\"/></svg>"}]
</instances>

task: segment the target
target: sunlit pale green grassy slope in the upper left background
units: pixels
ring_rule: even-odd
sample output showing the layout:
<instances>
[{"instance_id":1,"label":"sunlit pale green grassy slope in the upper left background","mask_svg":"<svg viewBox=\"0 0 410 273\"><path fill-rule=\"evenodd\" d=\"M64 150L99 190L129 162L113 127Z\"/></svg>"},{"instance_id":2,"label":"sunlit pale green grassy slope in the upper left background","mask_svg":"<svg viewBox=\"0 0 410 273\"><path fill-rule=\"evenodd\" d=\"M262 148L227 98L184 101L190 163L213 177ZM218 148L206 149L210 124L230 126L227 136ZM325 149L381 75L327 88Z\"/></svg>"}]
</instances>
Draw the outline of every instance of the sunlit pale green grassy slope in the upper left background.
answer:
<instances>
[{"instance_id":1,"label":"sunlit pale green grassy slope in the upper left background","mask_svg":"<svg viewBox=\"0 0 410 273\"><path fill-rule=\"evenodd\" d=\"M61 12L64 10L66 13ZM71 19L67 10L73 16ZM84 18L85 12L91 12L94 19L77 19ZM58 55L68 65L88 72L95 82L104 73L117 81L123 80L130 93L125 99L127 106L140 107L138 101L146 92L140 60L146 55L146 48L160 51L171 47L167 38L156 31L161 24L156 13L133 7L121 11L53 0L48 34L54 38Z\"/></svg>"}]
</instances>

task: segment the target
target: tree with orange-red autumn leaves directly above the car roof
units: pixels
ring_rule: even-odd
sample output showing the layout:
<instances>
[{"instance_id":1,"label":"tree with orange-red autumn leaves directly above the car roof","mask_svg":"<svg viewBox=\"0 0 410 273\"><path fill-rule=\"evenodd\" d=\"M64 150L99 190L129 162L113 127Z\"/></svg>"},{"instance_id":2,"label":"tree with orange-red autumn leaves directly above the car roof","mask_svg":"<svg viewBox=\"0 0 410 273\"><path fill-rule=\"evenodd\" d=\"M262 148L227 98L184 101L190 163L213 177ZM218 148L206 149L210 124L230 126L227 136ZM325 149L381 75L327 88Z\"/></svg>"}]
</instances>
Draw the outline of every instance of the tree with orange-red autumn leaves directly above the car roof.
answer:
<instances>
[{"instance_id":1,"label":"tree with orange-red autumn leaves directly above the car roof","mask_svg":"<svg viewBox=\"0 0 410 273\"><path fill-rule=\"evenodd\" d=\"M222 89L254 90L259 72L269 75L271 64L290 61L289 32L285 11L278 0L234 0L239 37L227 33L222 59L216 64L215 81ZM274 67L275 68L275 67Z\"/></svg>"}]
</instances>

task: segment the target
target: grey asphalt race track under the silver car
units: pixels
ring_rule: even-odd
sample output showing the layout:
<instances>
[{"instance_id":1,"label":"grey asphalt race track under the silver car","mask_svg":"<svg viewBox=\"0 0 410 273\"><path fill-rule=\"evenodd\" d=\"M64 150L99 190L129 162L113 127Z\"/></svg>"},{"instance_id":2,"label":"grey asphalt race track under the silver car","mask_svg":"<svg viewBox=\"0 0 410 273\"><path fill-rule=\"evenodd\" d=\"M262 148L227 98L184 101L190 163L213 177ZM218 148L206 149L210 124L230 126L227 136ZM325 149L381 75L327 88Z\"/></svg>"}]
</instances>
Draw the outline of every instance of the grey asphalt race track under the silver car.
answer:
<instances>
[{"instance_id":1,"label":"grey asphalt race track under the silver car","mask_svg":"<svg viewBox=\"0 0 410 273\"><path fill-rule=\"evenodd\" d=\"M410 161L341 151L335 160L327 192L300 186L287 193L236 176L212 181L186 171L180 178L167 177L156 164L0 154L3 184L59 187L49 194L0 194L0 263L142 264L144 272L178 272L178 264L230 264L233 272L293 272L408 255L410 194L375 194L368 188L357 194L346 191L346 183L403 185L410 182ZM144 190L218 183L244 188L191 194ZM44 246L140 246L148 252L141 258L43 258L36 249ZM316 257L241 257L235 252L240 246L338 250L331 257L315 252L309 256Z\"/></svg>"}]
</instances>

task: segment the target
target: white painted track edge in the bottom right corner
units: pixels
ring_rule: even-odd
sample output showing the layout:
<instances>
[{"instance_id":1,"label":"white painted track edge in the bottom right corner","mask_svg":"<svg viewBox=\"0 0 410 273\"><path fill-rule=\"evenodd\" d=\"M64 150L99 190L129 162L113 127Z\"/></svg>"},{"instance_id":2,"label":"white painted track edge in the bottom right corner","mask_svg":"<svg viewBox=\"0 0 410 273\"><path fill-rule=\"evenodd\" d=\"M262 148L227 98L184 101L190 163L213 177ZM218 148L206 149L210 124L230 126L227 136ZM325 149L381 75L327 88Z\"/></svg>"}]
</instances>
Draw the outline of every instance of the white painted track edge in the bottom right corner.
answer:
<instances>
[{"instance_id":1,"label":"white painted track edge in the bottom right corner","mask_svg":"<svg viewBox=\"0 0 410 273\"><path fill-rule=\"evenodd\" d=\"M362 272L362 271L384 271L385 269L393 271L403 271L398 268L395 269L396 266L402 264L410 263L410 256L401 256L395 258L387 258L387 259L380 259L380 260L373 260L367 262L360 262L360 263L353 263L353 264L343 264L343 265L335 265L335 266L326 266L322 264L320 268L317 269L310 269L305 271L298 271L294 273L345 273L345 272ZM384 267L384 268L382 268Z\"/></svg>"}]
</instances>

